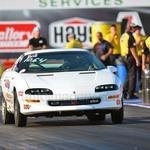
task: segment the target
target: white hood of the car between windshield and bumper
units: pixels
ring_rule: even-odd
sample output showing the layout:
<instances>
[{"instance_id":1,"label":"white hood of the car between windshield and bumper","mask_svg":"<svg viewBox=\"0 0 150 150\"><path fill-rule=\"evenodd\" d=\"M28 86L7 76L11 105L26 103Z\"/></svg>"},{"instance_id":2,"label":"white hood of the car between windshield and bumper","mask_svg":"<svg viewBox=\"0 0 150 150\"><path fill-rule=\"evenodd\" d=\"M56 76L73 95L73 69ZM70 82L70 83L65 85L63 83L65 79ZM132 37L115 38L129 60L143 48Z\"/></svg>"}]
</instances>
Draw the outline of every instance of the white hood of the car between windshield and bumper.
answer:
<instances>
[{"instance_id":1,"label":"white hood of the car between windshield and bumper","mask_svg":"<svg viewBox=\"0 0 150 150\"><path fill-rule=\"evenodd\" d=\"M29 88L49 88L55 93L67 91L94 92L95 86L116 83L116 77L107 69L89 72L59 72L22 74Z\"/></svg>"}]
</instances>

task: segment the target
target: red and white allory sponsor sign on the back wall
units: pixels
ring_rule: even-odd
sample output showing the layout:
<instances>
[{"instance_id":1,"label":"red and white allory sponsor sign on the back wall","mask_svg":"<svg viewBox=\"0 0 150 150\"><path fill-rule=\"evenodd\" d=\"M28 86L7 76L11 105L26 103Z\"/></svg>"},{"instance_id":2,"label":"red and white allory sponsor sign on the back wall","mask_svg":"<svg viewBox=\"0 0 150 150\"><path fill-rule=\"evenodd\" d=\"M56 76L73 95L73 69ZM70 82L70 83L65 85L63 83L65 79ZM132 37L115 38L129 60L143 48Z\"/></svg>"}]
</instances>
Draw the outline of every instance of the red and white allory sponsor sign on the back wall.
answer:
<instances>
[{"instance_id":1,"label":"red and white allory sponsor sign on the back wall","mask_svg":"<svg viewBox=\"0 0 150 150\"><path fill-rule=\"evenodd\" d=\"M39 23L35 21L0 22L0 52L27 50L35 26L39 26Z\"/></svg>"}]
</instances>

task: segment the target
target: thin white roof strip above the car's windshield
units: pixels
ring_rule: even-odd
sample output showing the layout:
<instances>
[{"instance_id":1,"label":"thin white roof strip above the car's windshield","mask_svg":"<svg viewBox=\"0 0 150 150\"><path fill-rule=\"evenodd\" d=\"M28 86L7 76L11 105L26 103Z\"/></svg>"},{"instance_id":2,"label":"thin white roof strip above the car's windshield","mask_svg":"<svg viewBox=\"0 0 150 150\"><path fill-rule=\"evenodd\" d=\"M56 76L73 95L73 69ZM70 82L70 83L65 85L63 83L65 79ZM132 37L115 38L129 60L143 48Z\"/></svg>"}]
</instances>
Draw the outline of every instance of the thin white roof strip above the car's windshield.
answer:
<instances>
[{"instance_id":1,"label":"thin white roof strip above the car's windshield","mask_svg":"<svg viewBox=\"0 0 150 150\"><path fill-rule=\"evenodd\" d=\"M88 51L86 49L80 49L80 48L71 48L71 49L66 49L66 48L50 48L50 49L42 49L42 50L32 50L25 52L24 55L28 54L35 54L35 53L47 53L47 52L68 52L68 51Z\"/></svg>"}]
</instances>

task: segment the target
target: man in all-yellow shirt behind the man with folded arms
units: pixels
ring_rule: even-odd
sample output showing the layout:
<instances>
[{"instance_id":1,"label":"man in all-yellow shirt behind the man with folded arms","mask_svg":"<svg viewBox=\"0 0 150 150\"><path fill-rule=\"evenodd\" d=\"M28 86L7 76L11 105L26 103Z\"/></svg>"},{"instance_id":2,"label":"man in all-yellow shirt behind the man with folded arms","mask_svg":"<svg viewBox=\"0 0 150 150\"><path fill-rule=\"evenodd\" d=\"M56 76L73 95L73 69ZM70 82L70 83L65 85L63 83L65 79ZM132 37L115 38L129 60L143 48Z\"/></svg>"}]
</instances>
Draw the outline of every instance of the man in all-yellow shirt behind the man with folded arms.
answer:
<instances>
[{"instance_id":1,"label":"man in all-yellow shirt behind the man with folded arms","mask_svg":"<svg viewBox=\"0 0 150 150\"><path fill-rule=\"evenodd\" d=\"M111 61L112 64L116 65L116 59L120 56L120 37L117 33L117 26L115 24L110 26L110 32L106 35L105 40L110 42L113 46Z\"/></svg>"}]
</instances>

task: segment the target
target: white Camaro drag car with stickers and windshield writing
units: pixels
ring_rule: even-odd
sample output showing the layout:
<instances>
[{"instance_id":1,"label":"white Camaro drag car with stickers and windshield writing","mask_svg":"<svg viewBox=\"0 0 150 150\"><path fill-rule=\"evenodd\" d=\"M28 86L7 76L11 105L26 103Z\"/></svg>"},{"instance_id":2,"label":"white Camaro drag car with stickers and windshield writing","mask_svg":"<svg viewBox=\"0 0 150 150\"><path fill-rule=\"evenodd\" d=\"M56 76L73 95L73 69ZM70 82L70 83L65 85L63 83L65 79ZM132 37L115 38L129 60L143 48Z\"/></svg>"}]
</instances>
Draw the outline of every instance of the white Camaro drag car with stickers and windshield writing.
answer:
<instances>
[{"instance_id":1,"label":"white Camaro drag car with stickers and windshield writing","mask_svg":"<svg viewBox=\"0 0 150 150\"><path fill-rule=\"evenodd\" d=\"M1 77L2 121L17 127L30 116L81 116L123 121L122 84L114 66L84 49L45 49L22 54Z\"/></svg>"}]
</instances>

